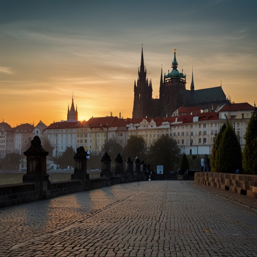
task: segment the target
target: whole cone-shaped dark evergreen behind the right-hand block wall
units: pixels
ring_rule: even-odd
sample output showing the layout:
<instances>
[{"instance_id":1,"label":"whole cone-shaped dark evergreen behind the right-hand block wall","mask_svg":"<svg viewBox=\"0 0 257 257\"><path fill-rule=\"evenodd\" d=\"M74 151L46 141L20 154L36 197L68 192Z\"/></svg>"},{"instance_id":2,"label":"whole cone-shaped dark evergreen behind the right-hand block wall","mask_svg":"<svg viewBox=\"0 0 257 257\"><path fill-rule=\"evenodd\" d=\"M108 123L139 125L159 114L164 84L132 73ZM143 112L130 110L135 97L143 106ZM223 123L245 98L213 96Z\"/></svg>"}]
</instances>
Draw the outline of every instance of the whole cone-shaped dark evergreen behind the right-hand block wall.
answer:
<instances>
[{"instance_id":1,"label":"whole cone-shaped dark evergreen behind the right-hand block wall","mask_svg":"<svg viewBox=\"0 0 257 257\"><path fill-rule=\"evenodd\" d=\"M216 170L220 173L235 173L242 169L241 147L231 123L227 122L226 129L216 154Z\"/></svg>"}]
</instances>

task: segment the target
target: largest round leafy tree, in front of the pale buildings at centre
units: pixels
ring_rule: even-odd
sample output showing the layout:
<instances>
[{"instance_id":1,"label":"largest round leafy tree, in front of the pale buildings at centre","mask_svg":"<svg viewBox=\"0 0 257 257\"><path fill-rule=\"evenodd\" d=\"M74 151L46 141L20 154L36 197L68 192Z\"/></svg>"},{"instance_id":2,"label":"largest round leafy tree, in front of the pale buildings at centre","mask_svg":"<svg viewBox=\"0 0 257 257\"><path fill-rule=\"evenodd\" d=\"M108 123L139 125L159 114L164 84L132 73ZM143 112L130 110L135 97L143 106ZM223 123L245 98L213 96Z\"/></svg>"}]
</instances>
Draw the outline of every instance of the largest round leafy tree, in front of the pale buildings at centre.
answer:
<instances>
[{"instance_id":1,"label":"largest round leafy tree, in front of the pale buildings at centre","mask_svg":"<svg viewBox=\"0 0 257 257\"><path fill-rule=\"evenodd\" d=\"M169 175L175 163L179 162L180 148L175 140L168 135L162 135L151 147L148 153L148 160L156 168L157 165L163 165L165 175Z\"/></svg>"}]
</instances>

